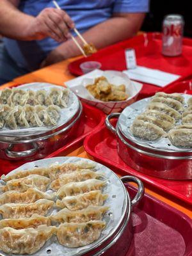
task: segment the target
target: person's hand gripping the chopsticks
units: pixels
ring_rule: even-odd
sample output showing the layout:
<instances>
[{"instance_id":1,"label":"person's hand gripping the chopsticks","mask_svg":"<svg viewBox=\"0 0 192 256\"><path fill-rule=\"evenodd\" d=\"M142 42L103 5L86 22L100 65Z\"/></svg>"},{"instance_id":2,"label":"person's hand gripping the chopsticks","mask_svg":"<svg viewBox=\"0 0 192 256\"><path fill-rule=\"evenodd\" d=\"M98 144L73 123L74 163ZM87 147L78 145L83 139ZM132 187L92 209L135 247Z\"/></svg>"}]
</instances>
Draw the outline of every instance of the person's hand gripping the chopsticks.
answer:
<instances>
[{"instance_id":1,"label":"person's hand gripping the chopsticks","mask_svg":"<svg viewBox=\"0 0 192 256\"><path fill-rule=\"evenodd\" d=\"M63 42L70 37L69 31L74 26L74 22L65 11L45 8L26 28L26 38L42 40L50 36L58 42Z\"/></svg>"}]
</instances>

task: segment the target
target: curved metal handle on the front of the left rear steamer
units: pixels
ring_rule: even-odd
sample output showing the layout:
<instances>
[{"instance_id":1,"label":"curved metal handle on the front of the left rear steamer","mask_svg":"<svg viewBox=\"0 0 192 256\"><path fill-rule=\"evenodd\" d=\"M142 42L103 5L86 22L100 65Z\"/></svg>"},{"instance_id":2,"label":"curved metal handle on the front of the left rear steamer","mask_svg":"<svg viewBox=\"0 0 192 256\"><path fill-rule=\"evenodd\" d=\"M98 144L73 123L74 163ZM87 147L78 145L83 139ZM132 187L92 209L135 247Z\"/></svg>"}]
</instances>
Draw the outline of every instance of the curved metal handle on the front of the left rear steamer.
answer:
<instances>
[{"instance_id":1,"label":"curved metal handle on the front of the left rear steamer","mask_svg":"<svg viewBox=\"0 0 192 256\"><path fill-rule=\"evenodd\" d=\"M36 145L36 143L31 143L33 145L33 148L29 149L29 150L25 150L25 151L12 151L13 148L13 144L10 144L8 146L8 148L6 148L4 150L5 154L7 157L12 158L12 159L19 159L19 158L24 158L24 157L29 157L29 156L33 156L36 151L38 150L38 146Z\"/></svg>"}]
</instances>

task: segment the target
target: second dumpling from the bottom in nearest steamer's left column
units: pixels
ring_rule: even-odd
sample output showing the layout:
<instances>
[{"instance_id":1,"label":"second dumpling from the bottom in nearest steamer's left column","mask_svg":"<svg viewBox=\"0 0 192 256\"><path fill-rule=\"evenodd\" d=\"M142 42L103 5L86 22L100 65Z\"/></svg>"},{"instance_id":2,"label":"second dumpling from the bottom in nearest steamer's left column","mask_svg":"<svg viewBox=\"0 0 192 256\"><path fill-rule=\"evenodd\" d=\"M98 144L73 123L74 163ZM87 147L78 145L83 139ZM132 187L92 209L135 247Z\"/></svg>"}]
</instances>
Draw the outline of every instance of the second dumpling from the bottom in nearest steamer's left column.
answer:
<instances>
[{"instance_id":1,"label":"second dumpling from the bottom in nearest steamer's left column","mask_svg":"<svg viewBox=\"0 0 192 256\"><path fill-rule=\"evenodd\" d=\"M4 219L0 220L0 228L10 227L15 229L37 228L40 225L51 226L51 220L48 217L33 214L30 218Z\"/></svg>"}]
</instances>

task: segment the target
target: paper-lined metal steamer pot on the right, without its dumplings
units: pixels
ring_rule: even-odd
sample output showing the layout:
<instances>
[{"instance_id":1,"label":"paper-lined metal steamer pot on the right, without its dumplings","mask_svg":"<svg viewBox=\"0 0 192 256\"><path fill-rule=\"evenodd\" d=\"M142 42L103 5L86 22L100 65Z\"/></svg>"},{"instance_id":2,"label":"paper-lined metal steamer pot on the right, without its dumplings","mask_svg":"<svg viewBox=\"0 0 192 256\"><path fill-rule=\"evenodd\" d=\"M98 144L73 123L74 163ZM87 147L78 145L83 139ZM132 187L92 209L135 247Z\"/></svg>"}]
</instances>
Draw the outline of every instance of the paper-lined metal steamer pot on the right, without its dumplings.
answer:
<instances>
[{"instance_id":1,"label":"paper-lined metal steamer pot on the right, without its dumplings","mask_svg":"<svg viewBox=\"0 0 192 256\"><path fill-rule=\"evenodd\" d=\"M189 95L184 95L186 100ZM140 172L163 179L192 179L192 149L175 147L168 138L145 141L129 130L134 118L145 110L150 98L139 100L120 113L106 118L106 126L116 135L118 154L122 160ZM116 127L110 120L118 118Z\"/></svg>"}]
</instances>

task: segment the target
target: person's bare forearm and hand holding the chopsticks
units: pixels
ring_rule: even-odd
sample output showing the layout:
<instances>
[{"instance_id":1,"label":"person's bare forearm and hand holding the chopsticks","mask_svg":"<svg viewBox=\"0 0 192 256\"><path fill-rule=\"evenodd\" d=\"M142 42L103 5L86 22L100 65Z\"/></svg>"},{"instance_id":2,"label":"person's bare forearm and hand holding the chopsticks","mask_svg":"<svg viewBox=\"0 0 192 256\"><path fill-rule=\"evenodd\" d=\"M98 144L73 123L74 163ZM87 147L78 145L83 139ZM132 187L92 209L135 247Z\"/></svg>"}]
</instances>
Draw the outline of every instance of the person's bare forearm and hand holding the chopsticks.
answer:
<instances>
[{"instance_id":1,"label":"person's bare forearm and hand holding the chopsticks","mask_svg":"<svg viewBox=\"0 0 192 256\"><path fill-rule=\"evenodd\" d=\"M62 42L74 22L63 10L46 8L36 17L18 10L20 0L1 0L0 34L17 40L41 40L51 36ZM38 3L37 3L38 4Z\"/></svg>"}]
</instances>

